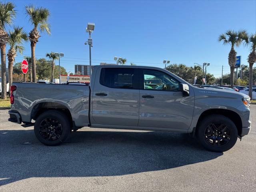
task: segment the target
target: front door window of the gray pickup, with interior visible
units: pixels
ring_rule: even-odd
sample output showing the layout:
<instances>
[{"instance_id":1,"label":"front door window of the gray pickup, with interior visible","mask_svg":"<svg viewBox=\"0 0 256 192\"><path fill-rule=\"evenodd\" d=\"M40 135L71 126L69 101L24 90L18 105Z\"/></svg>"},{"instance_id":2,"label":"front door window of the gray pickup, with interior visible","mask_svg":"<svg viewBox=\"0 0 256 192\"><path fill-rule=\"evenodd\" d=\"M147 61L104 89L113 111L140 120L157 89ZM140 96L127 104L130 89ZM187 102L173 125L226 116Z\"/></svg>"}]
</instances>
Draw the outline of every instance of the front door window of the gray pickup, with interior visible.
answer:
<instances>
[{"instance_id":1,"label":"front door window of the gray pickup, with interior visible","mask_svg":"<svg viewBox=\"0 0 256 192\"><path fill-rule=\"evenodd\" d=\"M179 82L157 70L143 70L144 90L178 91Z\"/></svg>"}]
</instances>

